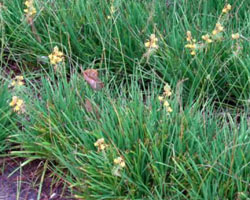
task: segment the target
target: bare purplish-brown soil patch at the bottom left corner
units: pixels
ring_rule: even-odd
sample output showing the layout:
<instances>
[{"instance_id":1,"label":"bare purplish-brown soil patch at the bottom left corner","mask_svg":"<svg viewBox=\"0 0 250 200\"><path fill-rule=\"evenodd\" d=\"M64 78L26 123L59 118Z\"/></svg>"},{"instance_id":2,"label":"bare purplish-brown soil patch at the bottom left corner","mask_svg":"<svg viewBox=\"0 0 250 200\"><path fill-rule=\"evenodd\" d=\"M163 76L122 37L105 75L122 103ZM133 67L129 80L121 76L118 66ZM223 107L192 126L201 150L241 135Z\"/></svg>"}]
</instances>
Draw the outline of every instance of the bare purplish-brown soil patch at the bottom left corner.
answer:
<instances>
[{"instance_id":1,"label":"bare purplish-brown soil patch at the bottom left corner","mask_svg":"<svg viewBox=\"0 0 250 200\"><path fill-rule=\"evenodd\" d=\"M23 161L0 158L0 200L73 200L66 184L53 180L51 173L46 173L38 198L43 161L20 168Z\"/></svg>"}]
</instances>

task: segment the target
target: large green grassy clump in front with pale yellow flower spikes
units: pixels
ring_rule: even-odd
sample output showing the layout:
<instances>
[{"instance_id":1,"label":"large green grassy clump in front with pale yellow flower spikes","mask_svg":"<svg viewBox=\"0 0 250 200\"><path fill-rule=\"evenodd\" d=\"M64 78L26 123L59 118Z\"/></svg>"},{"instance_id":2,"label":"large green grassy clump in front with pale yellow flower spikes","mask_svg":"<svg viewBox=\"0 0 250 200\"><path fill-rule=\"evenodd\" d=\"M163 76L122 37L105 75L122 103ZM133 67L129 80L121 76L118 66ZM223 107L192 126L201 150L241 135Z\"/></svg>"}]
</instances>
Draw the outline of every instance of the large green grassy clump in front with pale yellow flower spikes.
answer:
<instances>
[{"instance_id":1,"label":"large green grassy clump in front with pale yellow flower spikes","mask_svg":"<svg viewBox=\"0 0 250 200\"><path fill-rule=\"evenodd\" d=\"M236 124L230 114L213 112L209 103L182 107L180 88L173 84L142 92L134 82L128 95L125 90L116 95L107 88L94 92L77 74L69 81L52 77L41 80L39 98L30 94L26 100L29 120L12 138L23 151L12 153L49 160L76 197L248 195L249 129L244 114Z\"/></svg>"}]
</instances>

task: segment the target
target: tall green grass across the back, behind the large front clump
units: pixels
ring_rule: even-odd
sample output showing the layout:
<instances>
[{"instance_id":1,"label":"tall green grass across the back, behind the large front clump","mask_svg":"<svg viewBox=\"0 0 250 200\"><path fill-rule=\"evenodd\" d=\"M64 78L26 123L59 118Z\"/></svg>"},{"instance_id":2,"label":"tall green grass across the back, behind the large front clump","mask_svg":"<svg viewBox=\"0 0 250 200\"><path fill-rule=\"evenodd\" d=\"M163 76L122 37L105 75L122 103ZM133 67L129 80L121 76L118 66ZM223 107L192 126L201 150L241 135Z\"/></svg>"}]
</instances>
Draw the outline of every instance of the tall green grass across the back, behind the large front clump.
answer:
<instances>
[{"instance_id":1,"label":"tall green grass across the back, behind the large front clump","mask_svg":"<svg viewBox=\"0 0 250 200\"><path fill-rule=\"evenodd\" d=\"M137 69L149 80L152 74L174 84L187 79L185 102L212 98L220 105L247 106L249 1L34 2L35 30L25 18L24 1L4 0L1 9L3 54L21 66L48 68L46 57L58 45L68 66L78 62L112 71L120 82ZM226 3L232 9L221 15ZM217 22L224 27L220 39L202 45L202 35L211 34ZM185 49L188 30L199 46L195 56ZM231 34L237 32L241 37L236 42ZM146 55L144 43L152 33L159 48Z\"/></svg>"}]
</instances>

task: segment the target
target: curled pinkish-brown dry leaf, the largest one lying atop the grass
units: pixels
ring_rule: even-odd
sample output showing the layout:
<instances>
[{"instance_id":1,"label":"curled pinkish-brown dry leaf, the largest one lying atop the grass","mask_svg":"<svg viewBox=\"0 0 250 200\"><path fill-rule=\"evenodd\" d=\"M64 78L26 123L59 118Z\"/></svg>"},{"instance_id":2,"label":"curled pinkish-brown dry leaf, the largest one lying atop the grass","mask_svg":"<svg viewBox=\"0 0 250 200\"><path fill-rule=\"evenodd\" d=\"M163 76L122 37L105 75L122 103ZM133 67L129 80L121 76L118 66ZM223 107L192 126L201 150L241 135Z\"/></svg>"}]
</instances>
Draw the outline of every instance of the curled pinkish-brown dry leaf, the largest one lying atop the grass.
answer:
<instances>
[{"instance_id":1,"label":"curled pinkish-brown dry leaf, the largest one lying atop the grass","mask_svg":"<svg viewBox=\"0 0 250 200\"><path fill-rule=\"evenodd\" d=\"M96 69L83 71L83 77L94 90L101 90L104 87L103 82L98 78L98 71Z\"/></svg>"}]
</instances>

